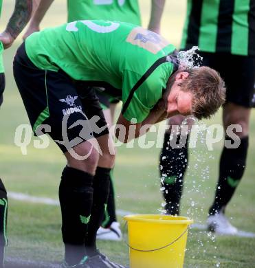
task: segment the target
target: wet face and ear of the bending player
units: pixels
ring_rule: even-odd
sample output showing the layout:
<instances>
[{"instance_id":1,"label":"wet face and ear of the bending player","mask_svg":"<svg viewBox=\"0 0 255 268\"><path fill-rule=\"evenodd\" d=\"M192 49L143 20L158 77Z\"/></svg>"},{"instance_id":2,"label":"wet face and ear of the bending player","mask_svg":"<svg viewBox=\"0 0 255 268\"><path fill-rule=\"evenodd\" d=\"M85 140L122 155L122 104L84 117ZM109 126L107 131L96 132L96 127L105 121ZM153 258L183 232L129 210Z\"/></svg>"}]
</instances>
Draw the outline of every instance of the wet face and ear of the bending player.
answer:
<instances>
[{"instance_id":1,"label":"wet face and ear of the bending player","mask_svg":"<svg viewBox=\"0 0 255 268\"><path fill-rule=\"evenodd\" d=\"M173 115L191 115L192 113L192 93L183 91L179 83L188 77L188 73L179 73L175 78L175 82L171 87L167 99L167 113L169 116Z\"/></svg>"}]
</instances>

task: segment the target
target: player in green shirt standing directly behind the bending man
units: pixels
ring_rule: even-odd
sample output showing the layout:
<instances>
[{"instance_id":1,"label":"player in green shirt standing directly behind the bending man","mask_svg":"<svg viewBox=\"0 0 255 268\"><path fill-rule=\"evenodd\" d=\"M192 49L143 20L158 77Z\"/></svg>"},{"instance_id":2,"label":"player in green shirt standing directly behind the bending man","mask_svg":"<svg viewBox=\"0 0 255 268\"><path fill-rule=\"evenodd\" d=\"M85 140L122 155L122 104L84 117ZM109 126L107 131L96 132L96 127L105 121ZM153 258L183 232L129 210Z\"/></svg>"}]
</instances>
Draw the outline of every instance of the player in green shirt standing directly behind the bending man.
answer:
<instances>
[{"instance_id":1,"label":"player in green shirt standing directly behind the bending man","mask_svg":"<svg viewBox=\"0 0 255 268\"><path fill-rule=\"evenodd\" d=\"M24 38L30 36L33 32L38 32L40 23L49 9L49 6L54 0L40 1L38 8L32 16L29 27L25 32ZM160 21L164 9L165 0L151 0L151 19L148 24L148 30L157 32L159 34ZM140 8L137 0L126 0L120 3L119 1L73 1L67 0L68 22L82 19L104 19L111 21L131 21L135 25L141 25ZM104 118L107 124L112 126L114 121L114 111L119 100L106 96L97 91L100 104L104 112ZM122 239L122 232L120 224L117 222L115 212L115 198L113 190L113 171L110 174L110 192L107 201L107 208L105 210L102 227L98 230L99 239L107 239L113 241L120 241Z\"/></svg>"}]
</instances>

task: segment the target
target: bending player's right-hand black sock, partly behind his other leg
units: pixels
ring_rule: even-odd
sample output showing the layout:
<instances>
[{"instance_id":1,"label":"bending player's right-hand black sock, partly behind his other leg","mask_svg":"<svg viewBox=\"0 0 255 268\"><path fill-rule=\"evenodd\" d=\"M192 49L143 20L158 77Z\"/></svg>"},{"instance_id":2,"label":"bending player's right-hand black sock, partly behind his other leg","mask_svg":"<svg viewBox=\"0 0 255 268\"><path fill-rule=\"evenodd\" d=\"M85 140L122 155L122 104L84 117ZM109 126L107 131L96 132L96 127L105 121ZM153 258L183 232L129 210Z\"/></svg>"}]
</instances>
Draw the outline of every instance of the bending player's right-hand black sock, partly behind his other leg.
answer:
<instances>
[{"instance_id":1,"label":"bending player's right-hand black sock, partly behind his other leg","mask_svg":"<svg viewBox=\"0 0 255 268\"><path fill-rule=\"evenodd\" d=\"M111 168L96 169L96 175L93 179L93 205L91 210L91 219L85 242L86 252L89 256L96 254L96 232L102 224L104 211L109 197Z\"/></svg>"}]
</instances>

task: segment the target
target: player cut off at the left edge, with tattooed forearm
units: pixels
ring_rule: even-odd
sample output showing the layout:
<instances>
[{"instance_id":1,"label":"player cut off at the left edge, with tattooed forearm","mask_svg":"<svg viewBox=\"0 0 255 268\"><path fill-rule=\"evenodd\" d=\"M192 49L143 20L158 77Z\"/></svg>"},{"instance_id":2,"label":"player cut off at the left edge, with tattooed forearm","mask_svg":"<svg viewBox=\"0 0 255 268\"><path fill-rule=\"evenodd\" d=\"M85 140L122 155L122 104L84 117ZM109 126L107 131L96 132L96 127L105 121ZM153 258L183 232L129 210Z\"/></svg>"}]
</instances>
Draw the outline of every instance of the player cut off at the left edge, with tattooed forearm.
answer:
<instances>
[{"instance_id":1,"label":"player cut off at the left edge, with tattooed forearm","mask_svg":"<svg viewBox=\"0 0 255 268\"><path fill-rule=\"evenodd\" d=\"M3 1L0 0L0 16ZM14 12L10 17L4 32L0 34L0 107L3 103L3 91L5 89L5 74L3 67L3 49L12 45L16 37L21 33L32 14L32 0L16 0ZM0 267L4 266L5 246L7 245L8 199L3 181L0 179Z\"/></svg>"}]
</instances>

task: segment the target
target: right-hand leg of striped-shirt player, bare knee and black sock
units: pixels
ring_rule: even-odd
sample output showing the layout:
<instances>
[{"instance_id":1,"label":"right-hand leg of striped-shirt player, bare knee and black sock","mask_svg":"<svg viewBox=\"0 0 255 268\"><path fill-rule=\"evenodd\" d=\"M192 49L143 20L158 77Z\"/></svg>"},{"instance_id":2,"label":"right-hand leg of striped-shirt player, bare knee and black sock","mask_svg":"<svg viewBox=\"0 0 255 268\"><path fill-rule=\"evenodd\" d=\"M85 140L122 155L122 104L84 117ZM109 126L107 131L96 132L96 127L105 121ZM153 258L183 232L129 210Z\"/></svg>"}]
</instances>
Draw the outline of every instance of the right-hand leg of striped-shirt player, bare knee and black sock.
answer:
<instances>
[{"instance_id":1,"label":"right-hand leg of striped-shirt player, bare knee and black sock","mask_svg":"<svg viewBox=\"0 0 255 268\"><path fill-rule=\"evenodd\" d=\"M238 148L223 148L220 160L219 181L217 183L214 203L210 208L209 214L215 215L224 213L225 207L230 202L237 186L239 185L243 172L245 171L247 149L249 143L249 119L251 109L228 102L223 108L223 124L227 129L231 124L239 124L242 132L236 133L241 139ZM226 137L230 139L230 137ZM210 228L214 229L214 223L211 223L213 216L209 217ZM230 232L236 232L236 228L230 228Z\"/></svg>"}]
</instances>

